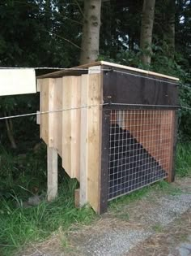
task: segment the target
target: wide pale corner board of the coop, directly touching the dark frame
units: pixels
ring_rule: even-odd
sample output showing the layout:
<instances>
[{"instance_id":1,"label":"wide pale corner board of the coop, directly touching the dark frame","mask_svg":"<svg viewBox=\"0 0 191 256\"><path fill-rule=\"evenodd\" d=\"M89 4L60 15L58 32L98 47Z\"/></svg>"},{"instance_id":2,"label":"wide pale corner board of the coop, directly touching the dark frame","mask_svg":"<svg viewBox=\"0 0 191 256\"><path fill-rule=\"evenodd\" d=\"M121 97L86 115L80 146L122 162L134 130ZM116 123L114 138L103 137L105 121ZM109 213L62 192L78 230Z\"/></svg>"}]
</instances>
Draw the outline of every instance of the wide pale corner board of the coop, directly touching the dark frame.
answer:
<instances>
[{"instance_id":1,"label":"wide pale corner board of the coop, directly touching the dark frame","mask_svg":"<svg viewBox=\"0 0 191 256\"><path fill-rule=\"evenodd\" d=\"M88 75L87 92L87 201L100 212L102 93L100 74ZM93 105L93 106L91 106Z\"/></svg>"}]
</instances>

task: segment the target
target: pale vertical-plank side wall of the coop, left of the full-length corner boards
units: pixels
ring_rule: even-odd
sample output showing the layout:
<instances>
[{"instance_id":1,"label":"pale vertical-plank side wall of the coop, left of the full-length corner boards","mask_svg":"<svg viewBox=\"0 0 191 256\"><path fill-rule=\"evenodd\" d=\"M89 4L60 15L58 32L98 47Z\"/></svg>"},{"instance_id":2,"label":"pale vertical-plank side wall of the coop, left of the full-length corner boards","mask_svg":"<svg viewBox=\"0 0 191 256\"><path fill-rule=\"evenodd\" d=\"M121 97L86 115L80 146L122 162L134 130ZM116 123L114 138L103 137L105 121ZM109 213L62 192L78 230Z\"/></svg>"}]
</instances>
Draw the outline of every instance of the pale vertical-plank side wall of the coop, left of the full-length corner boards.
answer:
<instances>
[{"instance_id":1,"label":"pale vertical-plank side wall of the coop, left of the full-length corner boards","mask_svg":"<svg viewBox=\"0 0 191 256\"><path fill-rule=\"evenodd\" d=\"M38 117L40 137L62 157L71 178L79 180L80 76L38 80L40 111L55 111Z\"/></svg>"}]
</instances>

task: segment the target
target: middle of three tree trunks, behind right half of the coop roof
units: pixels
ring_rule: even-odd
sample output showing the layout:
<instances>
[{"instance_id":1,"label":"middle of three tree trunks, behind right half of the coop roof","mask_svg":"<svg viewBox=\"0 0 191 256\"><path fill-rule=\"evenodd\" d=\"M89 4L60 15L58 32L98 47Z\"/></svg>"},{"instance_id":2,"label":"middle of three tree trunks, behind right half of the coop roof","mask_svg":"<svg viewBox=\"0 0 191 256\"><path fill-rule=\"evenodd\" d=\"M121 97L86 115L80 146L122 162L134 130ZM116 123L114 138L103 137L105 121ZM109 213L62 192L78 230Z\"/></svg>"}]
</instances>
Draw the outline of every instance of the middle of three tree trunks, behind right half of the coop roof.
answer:
<instances>
[{"instance_id":1,"label":"middle of three tree trunks, behind right half of the coop roof","mask_svg":"<svg viewBox=\"0 0 191 256\"><path fill-rule=\"evenodd\" d=\"M151 63L152 30L155 19L155 0L144 0L142 8L142 29L140 48L142 50L142 63Z\"/></svg>"}]
</instances>

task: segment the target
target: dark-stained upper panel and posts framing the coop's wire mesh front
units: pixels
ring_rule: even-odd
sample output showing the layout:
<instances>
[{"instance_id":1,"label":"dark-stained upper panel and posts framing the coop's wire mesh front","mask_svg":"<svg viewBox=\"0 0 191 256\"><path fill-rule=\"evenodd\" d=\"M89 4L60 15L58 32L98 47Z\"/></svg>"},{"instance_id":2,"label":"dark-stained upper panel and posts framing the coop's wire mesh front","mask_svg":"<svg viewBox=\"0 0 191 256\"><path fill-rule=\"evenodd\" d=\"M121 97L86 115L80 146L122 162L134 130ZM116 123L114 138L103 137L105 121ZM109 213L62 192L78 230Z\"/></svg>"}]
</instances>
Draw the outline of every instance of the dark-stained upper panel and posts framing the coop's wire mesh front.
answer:
<instances>
[{"instance_id":1,"label":"dark-stained upper panel and posts framing the coop's wire mesh front","mask_svg":"<svg viewBox=\"0 0 191 256\"><path fill-rule=\"evenodd\" d=\"M108 68L105 67L104 68ZM121 71L121 70L120 70ZM125 73L126 72L126 73ZM133 77L133 80L132 80ZM128 83L127 83L128 81ZM130 81L130 82L129 82ZM134 82L134 83L133 83ZM134 84L134 85L133 85ZM145 91L142 97L142 84ZM133 85L133 86L132 86ZM120 89L119 89L120 86ZM134 86L136 89L134 89ZM146 88L147 87L147 88ZM149 93L151 90L151 93ZM152 97L155 93L155 97ZM158 96L156 96L158 95ZM177 133L177 108L178 108L178 90L177 84L169 80L150 80L147 76L130 76L129 71L122 73L103 72L103 99L108 105L103 106L102 118L102 152L101 152L101 176L100 176L100 214L107 211L108 208L108 150L109 150L109 122L111 110L173 110L176 112L173 131L172 148L172 173L169 182L174 181L175 169L174 162L176 156L176 133ZM115 103L117 105L112 105ZM127 105L121 105L127 104ZM133 104L129 106L128 104ZM142 104L145 106L138 106Z\"/></svg>"}]
</instances>

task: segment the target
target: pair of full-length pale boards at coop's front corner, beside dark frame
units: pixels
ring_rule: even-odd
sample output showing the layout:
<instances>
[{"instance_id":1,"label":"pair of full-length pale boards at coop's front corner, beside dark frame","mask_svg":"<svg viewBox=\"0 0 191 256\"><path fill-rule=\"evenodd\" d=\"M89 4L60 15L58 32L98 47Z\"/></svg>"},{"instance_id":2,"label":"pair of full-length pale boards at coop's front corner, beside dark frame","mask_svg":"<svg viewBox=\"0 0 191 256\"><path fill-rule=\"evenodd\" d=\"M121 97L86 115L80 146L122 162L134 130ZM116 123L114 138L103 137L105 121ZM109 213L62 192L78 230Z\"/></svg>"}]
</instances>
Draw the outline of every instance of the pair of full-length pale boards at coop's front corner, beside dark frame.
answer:
<instances>
[{"instance_id":1,"label":"pair of full-length pale boards at coop's front corner, beside dark frame","mask_svg":"<svg viewBox=\"0 0 191 256\"><path fill-rule=\"evenodd\" d=\"M81 115L80 200L87 200L93 209L99 213L102 121L102 106L100 106L100 103L102 103L101 74L84 75L81 92L82 102L87 103L88 107L86 111L82 111ZM84 136L86 137L84 138ZM82 201L80 204L82 205Z\"/></svg>"}]
</instances>

